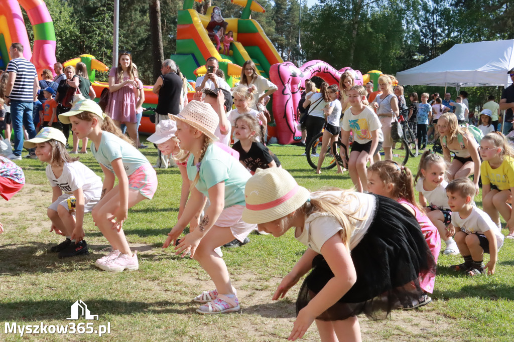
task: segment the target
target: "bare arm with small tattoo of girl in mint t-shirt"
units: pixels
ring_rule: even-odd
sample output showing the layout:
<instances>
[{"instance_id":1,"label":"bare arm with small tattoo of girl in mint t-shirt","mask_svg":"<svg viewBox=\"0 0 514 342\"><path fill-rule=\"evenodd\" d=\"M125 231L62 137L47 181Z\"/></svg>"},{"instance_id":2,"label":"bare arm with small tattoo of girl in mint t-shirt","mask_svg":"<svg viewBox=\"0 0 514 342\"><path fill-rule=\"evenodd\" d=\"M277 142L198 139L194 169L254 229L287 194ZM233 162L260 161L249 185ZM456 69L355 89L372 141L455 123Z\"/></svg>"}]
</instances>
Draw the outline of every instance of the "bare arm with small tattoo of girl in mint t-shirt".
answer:
<instances>
[{"instance_id":1,"label":"bare arm with small tattoo of girl in mint t-shirt","mask_svg":"<svg viewBox=\"0 0 514 342\"><path fill-rule=\"evenodd\" d=\"M175 247L175 250L177 250L175 254L182 254L183 256L185 252L189 251L191 252L191 258L194 257L200 240L209 232L219 215L223 212L225 207L225 181L211 186L208 189L208 193L211 205L205 211L205 215L200 220L198 227L180 240L180 243Z\"/></svg>"}]
</instances>

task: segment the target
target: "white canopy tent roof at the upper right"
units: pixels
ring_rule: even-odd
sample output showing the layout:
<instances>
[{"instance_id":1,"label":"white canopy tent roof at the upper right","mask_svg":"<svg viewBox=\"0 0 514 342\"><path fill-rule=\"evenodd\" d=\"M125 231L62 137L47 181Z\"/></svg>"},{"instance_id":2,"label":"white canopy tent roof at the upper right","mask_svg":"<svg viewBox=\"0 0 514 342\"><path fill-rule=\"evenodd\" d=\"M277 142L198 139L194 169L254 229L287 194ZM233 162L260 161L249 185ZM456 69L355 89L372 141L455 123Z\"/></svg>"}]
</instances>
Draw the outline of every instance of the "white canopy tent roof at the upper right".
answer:
<instances>
[{"instance_id":1,"label":"white canopy tent roof at the upper right","mask_svg":"<svg viewBox=\"0 0 514 342\"><path fill-rule=\"evenodd\" d=\"M396 73L398 84L461 87L508 86L514 40L455 44L433 60Z\"/></svg>"}]
</instances>

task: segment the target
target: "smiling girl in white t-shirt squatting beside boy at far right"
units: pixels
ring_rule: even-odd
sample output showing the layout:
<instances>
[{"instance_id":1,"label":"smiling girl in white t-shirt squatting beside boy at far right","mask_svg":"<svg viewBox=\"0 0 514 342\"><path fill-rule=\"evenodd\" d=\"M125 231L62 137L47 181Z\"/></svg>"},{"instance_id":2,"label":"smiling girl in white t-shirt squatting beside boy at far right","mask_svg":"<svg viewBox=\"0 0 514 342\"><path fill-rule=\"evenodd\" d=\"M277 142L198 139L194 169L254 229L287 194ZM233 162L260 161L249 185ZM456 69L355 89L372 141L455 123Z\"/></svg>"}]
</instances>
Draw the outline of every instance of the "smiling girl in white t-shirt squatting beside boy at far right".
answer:
<instances>
[{"instance_id":1,"label":"smiling girl in white t-shirt squatting beside boy at far right","mask_svg":"<svg viewBox=\"0 0 514 342\"><path fill-rule=\"evenodd\" d=\"M447 236L451 223L451 210L446 196L446 162L432 150L425 151L419 161L414 182L419 192L419 205L424 208L428 218L437 228L442 239ZM418 181L419 180L419 181ZM445 255L458 254L458 247L452 237L445 240Z\"/></svg>"}]
</instances>

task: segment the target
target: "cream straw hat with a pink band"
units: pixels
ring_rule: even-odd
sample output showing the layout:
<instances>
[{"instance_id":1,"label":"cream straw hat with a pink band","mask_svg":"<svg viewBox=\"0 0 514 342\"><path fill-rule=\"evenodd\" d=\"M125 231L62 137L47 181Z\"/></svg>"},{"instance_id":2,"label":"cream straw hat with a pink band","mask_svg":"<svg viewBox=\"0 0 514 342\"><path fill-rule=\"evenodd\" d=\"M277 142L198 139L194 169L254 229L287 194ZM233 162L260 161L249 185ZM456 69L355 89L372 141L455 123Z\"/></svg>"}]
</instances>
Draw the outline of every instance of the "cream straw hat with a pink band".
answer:
<instances>
[{"instance_id":1,"label":"cream straw hat with a pink band","mask_svg":"<svg viewBox=\"0 0 514 342\"><path fill-rule=\"evenodd\" d=\"M297 210L309 197L309 191L283 168L258 168L245 185L243 221L271 222Z\"/></svg>"}]
</instances>

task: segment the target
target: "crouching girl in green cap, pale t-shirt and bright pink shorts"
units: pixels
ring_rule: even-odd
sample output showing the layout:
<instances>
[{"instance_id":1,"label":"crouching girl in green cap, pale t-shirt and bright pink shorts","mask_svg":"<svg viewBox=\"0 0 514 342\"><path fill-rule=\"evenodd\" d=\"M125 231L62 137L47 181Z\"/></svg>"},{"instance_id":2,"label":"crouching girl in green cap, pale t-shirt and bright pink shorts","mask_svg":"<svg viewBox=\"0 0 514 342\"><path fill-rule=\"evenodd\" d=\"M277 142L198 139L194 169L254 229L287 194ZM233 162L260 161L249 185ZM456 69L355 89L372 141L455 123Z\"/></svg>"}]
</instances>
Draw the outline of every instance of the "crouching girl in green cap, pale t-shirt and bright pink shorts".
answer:
<instances>
[{"instance_id":1,"label":"crouching girl in green cap, pale t-shirt and bright pink shorts","mask_svg":"<svg viewBox=\"0 0 514 342\"><path fill-rule=\"evenodd\" d=\"M105 174L102 197L93 210L93 219L113 251L98 259L96 267L109 272L139 269L137 254L132 254L122 227L128 208L154 196L155 170L96 102L79 98L59 120L71 123L71 130L79 139L91 140L91 154ZM118 185L114 186L116 178Z\"/></svg>"}]
</instances>

